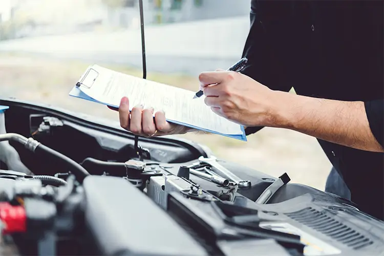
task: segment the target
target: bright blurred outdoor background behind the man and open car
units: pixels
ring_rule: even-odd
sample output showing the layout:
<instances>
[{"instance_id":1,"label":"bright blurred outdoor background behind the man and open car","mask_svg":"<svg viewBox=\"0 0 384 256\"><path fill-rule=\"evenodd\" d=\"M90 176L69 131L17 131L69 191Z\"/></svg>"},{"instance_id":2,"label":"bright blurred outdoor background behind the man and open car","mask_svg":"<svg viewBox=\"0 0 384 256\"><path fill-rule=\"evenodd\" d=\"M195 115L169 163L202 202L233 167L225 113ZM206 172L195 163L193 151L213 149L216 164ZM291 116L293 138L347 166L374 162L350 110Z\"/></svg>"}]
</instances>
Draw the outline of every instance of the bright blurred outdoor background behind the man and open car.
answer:
<instances>
[{"instance_id":1,"label":"bright blurred outdoor background behind the man and open car","mask_svg":"<svg viewBox=\"0 0 384 256\"><path fill-rule=\"evenodd\" d=\"M241 58L250 0L143 0L143 9L147 79L196 91L200 72ZM142 76L138 0L0 0L0 56L3 97L117 122L116 112L68 93L93 63ZM317 141L293 131L264 128L248 142L180 137L207 145L217 157L275 177L287 172L292 182L321 190L331 169Z\"/></svg>"}]
</instances>

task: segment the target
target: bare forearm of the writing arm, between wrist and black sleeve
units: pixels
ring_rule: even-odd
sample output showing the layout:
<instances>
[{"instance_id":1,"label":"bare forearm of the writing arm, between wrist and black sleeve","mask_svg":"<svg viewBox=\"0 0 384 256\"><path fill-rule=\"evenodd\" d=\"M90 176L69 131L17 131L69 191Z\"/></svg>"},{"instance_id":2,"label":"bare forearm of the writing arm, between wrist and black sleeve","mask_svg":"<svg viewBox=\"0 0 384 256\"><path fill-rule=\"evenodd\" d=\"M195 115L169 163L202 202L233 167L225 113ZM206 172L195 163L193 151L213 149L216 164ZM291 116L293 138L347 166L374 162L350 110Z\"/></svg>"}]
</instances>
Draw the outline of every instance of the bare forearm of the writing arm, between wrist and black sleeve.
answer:
<instances>
[{"instance_id":1,"label":"bare forearm of the writing arm, between wrist and black sleeve","mask_svg":"<svg viewBox=\"0 0 384 256\"><path fill-rule=\"evenodd\" d=\"M371 132L364 102L276 94L280 127L360 150L384 152Z\"/></svg>"}]
</instances>

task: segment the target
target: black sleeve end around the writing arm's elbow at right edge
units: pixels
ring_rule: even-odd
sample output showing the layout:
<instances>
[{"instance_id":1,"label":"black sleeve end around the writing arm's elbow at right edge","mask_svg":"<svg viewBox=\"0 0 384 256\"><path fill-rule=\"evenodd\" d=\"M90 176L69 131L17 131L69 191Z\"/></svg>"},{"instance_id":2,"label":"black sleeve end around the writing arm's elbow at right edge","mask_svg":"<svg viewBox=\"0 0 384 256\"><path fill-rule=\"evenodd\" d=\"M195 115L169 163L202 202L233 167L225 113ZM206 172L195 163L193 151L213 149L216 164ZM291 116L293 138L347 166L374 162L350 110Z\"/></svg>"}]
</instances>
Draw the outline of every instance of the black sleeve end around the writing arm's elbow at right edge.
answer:
<instances>
[{"instance_id":1,"label":"black sleeve end around the writing arm's elbow at right edge","mask_svg":"<svg viewBox=\"0 0 384 256\"><path fill-rule=\"evenodd\" d=\"M365 101L364 105L372 134L384 147L384 99Z\"/></svg>"}]
</instances>

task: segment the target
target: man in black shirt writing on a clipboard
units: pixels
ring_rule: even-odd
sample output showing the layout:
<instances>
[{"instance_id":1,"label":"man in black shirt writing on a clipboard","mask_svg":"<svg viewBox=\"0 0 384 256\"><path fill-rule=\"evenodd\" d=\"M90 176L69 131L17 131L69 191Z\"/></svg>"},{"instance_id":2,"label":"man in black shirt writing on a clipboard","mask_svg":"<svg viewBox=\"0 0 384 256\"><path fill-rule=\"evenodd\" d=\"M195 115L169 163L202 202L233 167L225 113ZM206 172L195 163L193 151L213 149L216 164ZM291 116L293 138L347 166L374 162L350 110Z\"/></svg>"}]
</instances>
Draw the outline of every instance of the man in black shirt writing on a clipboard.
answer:
<instances>
[{"instance_id":1,"label":"man in black shirt writing on a clipboard","mask_svg":"<svg viewBox=\"0 0 384 256\"><path fill-rule=\"evenodd\" d=\"M350 193L384 220L383 1L251 1L241 73L203 72L204 102L246 126L316 137L333 165L327 188ZM288 93L294 88L296 94ZM122 98L120 125L136 135L194 131ZM336 172L337 171L337 172ZM310 170L308 170L310 175ZM336 184L336 185L335 185ZM348 190L348 191L347 191Z\"/></svg>"}]
</instances>

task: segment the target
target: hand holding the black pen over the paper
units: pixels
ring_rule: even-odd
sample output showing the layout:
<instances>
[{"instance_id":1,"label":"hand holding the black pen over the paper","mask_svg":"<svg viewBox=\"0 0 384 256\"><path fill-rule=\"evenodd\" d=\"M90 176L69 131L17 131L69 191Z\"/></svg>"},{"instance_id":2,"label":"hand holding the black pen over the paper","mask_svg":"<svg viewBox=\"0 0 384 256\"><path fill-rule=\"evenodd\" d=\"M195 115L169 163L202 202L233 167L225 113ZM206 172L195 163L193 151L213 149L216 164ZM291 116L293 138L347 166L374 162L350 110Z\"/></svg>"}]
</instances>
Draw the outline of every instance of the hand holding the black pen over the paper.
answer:
<instances>
[{"instance_id":1,"label":"hand holding the black pen over the paper","mask_svg":"<svg viewBox=\"0 0 384 256\"><path fill-rule=\"evenodd\" d=\"M203 72L199 76L205 104L219 116L244 126L278 126L278 91L234 71Z\"/></svg>"}]
</instances>

